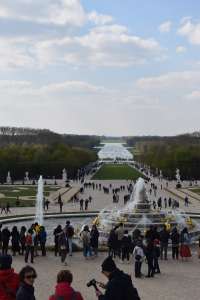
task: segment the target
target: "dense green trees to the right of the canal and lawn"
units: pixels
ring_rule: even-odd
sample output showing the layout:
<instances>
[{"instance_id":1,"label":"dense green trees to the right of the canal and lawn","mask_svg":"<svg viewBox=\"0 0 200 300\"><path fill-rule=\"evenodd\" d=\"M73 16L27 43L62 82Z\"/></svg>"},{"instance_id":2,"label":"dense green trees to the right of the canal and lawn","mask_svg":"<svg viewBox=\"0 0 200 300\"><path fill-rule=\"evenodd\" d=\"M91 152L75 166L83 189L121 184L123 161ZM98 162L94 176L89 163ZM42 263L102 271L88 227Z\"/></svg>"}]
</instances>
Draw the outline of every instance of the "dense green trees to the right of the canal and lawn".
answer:
<instances>
[{"instance_id":1,"label":"dense green trees to the right of the canal and lawn","mask_svg":"<svg viewBox=\"0 0 200 300\"><path fill-rule=\"evenodd\" d=\"M135 160L151 167L153 172L162 170L163 175L175 179L180 169L182 179L200 179L200 139L159 140L135 144Z\"/></svg>"}]
</instances>

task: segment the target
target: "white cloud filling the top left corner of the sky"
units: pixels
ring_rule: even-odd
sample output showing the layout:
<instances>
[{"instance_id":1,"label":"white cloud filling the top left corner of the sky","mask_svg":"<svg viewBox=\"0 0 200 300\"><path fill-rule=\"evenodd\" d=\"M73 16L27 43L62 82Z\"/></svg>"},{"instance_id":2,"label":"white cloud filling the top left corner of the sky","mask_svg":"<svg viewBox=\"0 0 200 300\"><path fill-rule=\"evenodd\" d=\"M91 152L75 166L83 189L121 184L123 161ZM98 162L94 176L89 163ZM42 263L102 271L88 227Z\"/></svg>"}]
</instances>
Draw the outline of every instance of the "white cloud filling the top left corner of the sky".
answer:
<instances>
[{"instance_id":1,"label":"white cloud filling the top left corner of the sky","mask_svg":"<svg viewBox=\"0 0 200 300\"><path fill-rule=\"evenodd\" d=\"M79 0L1 0L0 17L62 26L87 19Z\"/></svg>"}]
</instances>

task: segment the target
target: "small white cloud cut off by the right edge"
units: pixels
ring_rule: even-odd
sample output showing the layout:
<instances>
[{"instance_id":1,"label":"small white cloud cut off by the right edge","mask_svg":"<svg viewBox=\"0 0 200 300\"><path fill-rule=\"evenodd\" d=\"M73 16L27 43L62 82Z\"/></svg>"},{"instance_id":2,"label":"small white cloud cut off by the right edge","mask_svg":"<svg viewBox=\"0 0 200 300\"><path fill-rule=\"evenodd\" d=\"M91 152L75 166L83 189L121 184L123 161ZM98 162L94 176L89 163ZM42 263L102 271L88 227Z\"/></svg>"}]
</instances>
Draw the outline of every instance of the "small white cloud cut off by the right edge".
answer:
<instances>
[{"instance_id":1,"label":"small white cloud cut off by the right edge","mask_svg":"<svg viewBox=\"0 0 200 300\"><path fill-rule=\"evenodd\" d=\"M200 23L193 23L190 19L182 21L177 33L184 36L193 45L200 45Z\"/></svg>"}]
</instances>

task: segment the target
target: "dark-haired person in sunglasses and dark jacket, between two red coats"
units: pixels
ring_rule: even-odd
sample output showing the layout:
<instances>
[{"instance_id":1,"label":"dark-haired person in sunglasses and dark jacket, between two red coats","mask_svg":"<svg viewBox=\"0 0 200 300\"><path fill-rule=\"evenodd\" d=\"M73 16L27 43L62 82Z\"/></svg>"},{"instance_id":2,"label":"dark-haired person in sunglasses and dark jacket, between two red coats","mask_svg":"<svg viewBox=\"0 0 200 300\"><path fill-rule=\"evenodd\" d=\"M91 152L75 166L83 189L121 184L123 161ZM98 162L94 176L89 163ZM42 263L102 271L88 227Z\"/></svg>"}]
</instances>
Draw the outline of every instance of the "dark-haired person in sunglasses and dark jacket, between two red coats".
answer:
<instances>
[{"instance_id":1,"label":"dark-haired person in sunglasses and dark jacket, between two red coats","mask_svg":"<svg viewBox=\"0 0 200 300\"><path fill-rule=\"evenodd\" d=\"M36 300L34 295L34 281L37 273L34 268L26 266L19 272L20 286L16 300Z\"/></svg>"}]
</instances>

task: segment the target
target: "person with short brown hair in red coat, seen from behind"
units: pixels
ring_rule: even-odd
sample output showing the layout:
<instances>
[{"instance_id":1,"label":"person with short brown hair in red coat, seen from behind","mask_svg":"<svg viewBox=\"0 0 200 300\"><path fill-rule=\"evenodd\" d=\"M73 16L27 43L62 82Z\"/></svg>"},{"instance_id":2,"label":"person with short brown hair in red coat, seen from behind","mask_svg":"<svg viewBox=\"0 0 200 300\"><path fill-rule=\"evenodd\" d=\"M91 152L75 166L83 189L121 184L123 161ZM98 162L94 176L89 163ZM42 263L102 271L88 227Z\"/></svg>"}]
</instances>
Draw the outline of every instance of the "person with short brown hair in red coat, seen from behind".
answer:
<instances>
[{"instance_id":1,"label":"person with short brown hair in red coat, seen from behind","mask_svg":"<svg viewBox=\"0 0 200 300\"><path fill-rule=\"evenodd\" d=\"M83 300L79 292L74 291L71 287L73 275L68 270L62 270L57 275L57 285L55 294L49 297L49 300L56 300L62 297L63 300Z\"/></svg>"}]
</instances>

